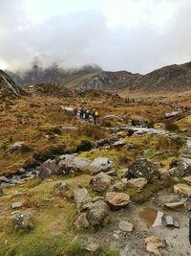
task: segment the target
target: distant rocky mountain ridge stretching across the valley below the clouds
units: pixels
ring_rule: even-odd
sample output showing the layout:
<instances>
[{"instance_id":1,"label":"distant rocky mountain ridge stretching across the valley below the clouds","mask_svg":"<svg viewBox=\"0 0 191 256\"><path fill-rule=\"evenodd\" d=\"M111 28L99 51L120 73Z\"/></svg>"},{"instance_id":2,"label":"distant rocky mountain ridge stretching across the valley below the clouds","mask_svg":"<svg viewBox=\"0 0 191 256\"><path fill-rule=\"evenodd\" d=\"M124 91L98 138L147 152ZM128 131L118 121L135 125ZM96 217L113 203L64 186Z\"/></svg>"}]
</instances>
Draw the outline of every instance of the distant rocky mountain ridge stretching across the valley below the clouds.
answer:
<instances>
[{"instance_id":1,"label":"distant rocky mountain ridge stretching across the valley below the clouds","mask_svg":"<svg viewBox=\"0 0 191 256\"><path fill-rule=\"evenodd\" d=\"M97 66L85 66L78 70L63 70L56 65L47 69L33 67L22 73L11 73L18 84L57 83L68 89L83 92L104 90L130 91L184 91L191 89L191 62L170 65L149 74L132 74L127 71L102 71Z\"/></svg>"}]
</instances>

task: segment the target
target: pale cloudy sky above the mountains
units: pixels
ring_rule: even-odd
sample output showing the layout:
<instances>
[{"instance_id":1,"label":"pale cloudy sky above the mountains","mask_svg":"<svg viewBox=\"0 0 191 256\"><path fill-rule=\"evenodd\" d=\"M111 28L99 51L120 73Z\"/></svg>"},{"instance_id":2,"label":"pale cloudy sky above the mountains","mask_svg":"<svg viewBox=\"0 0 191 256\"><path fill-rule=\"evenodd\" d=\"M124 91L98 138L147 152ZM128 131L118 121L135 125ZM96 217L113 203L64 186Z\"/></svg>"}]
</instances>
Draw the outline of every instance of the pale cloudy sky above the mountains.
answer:
<instances>
[{"instance_id":1,"label":"pale cloudy sky above the mountains","mask_svg":"<svg viewBox=\"0 0 191 256\"><path fill-rule=\"evenodd\" d=\"M191 61L190 0L0 0L0 69L97 64L145 74Z\"/></svg>"}]
</instances>

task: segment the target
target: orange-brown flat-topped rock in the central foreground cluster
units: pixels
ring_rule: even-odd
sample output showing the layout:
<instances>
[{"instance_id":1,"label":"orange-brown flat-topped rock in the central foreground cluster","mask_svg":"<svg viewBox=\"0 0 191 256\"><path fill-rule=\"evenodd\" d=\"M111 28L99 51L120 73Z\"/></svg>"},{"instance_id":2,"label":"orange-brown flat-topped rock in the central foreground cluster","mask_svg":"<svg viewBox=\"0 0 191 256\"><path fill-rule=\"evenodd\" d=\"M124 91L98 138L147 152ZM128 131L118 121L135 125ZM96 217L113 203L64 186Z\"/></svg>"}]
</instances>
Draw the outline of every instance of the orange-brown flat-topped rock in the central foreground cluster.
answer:
<instances>
[{"instance_id":1,"label":"orange-brown flat-topped rock in the central foreground cluster","mask_svg":"<svg viewBox=\"0 0 191 256\"><path fill-rule=\"evenodd\" d=\"M126 193L108 192L106 200L113 209L124 207L130 203L130 197Z\"/></svg>"}]
</instances>

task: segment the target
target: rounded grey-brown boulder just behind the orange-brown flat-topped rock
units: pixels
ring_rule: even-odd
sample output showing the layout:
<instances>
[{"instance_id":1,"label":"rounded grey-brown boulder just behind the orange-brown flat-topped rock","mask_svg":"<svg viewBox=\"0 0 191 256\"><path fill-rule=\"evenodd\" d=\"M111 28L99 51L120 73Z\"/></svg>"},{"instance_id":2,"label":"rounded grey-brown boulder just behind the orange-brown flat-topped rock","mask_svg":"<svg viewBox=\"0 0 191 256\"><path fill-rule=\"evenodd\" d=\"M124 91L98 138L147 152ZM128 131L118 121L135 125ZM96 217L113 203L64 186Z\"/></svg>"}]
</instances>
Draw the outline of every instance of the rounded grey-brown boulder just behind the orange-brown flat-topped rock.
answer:
<instances>
[{"instance_id":1,"label":"rounded grey-brown boulder just behind the orange-brown flat-topped rock","mask_svg":"<svg viewBox=\"0 0 191 256\"><path fill-rule=\"evenodd\" d=\"M112 177L104 173L100 173L93 177L91 184L96 192L107 191L112 183Z\"/></svg>"}]
</instances>

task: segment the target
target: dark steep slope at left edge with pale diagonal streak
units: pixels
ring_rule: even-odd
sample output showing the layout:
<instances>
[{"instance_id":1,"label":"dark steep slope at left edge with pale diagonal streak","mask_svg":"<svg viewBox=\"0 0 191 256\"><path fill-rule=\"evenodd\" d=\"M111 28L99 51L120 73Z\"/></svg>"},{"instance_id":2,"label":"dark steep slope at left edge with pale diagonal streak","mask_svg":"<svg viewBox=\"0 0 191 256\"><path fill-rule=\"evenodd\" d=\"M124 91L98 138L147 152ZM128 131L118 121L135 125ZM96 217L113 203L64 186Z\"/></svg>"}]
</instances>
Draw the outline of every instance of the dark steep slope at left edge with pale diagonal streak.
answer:
<instances>
[{"instance_id":1,"label":"dark steep slope at left edge with pale diagonal streak","mask_svg":"<svg viewBox=\"0 0 191 256\"><path fill-rule=\"evenodd\" d=\"M0 98L15 98L24 94L25 91L8 74L0 70Z\"/></svg>"}]
</instances>

